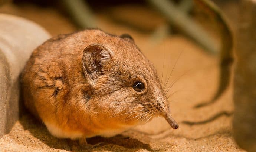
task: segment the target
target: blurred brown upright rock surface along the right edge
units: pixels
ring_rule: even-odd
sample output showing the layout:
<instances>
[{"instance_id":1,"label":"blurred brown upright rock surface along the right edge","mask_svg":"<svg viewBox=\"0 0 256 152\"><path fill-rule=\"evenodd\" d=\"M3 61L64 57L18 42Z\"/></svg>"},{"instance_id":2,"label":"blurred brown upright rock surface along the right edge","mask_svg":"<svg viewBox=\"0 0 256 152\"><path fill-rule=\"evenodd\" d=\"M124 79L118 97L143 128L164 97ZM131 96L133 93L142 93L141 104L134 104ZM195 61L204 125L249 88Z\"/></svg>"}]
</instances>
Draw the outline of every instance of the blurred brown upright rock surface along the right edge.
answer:
<instances>
[{"instance_id":1,"label":"blurred brown upright rock surface along the right edge","mask_svg":"<svg viewBox=\"0 0 256 152\"><path fill-rule=\"evenodd\" d=\"M256 0L240 5L234 73L233 130L237 143L256 151Z\"/></svg>"}]
</instances>

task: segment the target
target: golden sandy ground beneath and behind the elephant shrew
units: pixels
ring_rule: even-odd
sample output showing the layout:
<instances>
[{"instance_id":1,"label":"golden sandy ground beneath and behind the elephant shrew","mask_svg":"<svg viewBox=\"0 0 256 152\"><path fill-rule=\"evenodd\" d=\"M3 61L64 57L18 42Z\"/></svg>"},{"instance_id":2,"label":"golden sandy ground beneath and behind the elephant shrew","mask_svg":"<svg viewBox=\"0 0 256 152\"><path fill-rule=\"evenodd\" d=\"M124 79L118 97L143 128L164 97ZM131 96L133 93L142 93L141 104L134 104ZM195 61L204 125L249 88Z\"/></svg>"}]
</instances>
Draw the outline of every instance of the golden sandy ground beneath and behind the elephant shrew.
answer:
<instances>
[{"instance_id":1,"label":"golden sandy ground beneath and behind the elephant shrew","mask_svg":"<svg viewBox=\"0 0 256 152\"><path fill-rule=\"evenodd\" d=\"M68 18L52 8L7 4L1 7L1 12L29 18L52 35L76 30ZM99 28L106 32L132 35L142 52L154 63L160 77L163 75L163 83L167 83L167 77L182 52L167 83L169 86L178 79L168 94L174 93L169 99L170 107L180 128L173 130L163 118L155 118L112 138L89 138L89 144L102 144L86 150L77 141L53 137L45 125L25 112L10 133L0 139L0 151L243 151L232 137L232 84L216 103L193 108L209 100L217 88L216 57L206 54L181 35L156 40L149 33L112 22L104 13L97 14L97 21Z\"/></svg>"}]
</instances>

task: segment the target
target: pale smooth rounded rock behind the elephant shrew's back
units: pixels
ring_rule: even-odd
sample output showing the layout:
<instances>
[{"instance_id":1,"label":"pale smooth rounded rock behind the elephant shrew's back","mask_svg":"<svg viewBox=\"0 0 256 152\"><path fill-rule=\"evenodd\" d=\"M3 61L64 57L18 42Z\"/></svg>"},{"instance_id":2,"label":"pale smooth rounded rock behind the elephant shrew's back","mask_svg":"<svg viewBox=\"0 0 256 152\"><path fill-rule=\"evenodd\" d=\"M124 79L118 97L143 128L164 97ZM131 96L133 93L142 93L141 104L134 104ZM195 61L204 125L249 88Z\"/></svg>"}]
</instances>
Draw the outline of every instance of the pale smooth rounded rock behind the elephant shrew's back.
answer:
<instances>
[{"instance_id":1,"label":"pale smooth rounded rock behind the elephant shrew's back","mask_svg":"<svg viewBox=\"0 0 256 152\"><path fill-rule=\"evenodd\" d=\"M50 35L24 18L0 14L0 138L19 118L19 75L33 49Z\"/></svg>"}]
</instances>

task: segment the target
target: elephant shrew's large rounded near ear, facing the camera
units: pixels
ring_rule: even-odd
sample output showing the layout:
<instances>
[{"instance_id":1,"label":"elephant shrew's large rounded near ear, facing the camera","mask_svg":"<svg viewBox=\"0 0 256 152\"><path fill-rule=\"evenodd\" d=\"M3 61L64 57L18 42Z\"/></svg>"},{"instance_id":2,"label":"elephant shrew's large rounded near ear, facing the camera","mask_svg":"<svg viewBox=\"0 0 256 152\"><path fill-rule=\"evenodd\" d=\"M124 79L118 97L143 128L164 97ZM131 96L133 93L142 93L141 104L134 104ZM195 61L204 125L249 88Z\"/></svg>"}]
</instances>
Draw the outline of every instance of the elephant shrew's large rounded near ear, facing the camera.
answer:
<instances>
[{"instance_id":1,"label":"elephant shrew's large rounded near ear, facing the camera","mask_svg":"<svg viewBox=\"0 0 256 152\"><path fill-rule=\"evenodd\" d=\"M83 50L82 66L89 79L98 77L103 65L109 62L111 55L108 49L101 44L92 44Z\"/></svg>"}]
</instances>

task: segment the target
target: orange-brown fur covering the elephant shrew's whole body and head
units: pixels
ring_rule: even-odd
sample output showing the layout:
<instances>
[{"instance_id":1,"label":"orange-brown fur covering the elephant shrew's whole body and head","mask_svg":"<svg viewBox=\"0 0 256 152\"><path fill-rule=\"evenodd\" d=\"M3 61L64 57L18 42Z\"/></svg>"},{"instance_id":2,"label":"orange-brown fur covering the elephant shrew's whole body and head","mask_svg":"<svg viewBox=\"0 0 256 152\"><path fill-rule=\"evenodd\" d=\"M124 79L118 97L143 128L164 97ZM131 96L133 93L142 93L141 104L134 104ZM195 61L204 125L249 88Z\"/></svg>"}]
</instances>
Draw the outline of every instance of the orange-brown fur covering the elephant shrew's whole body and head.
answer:
<instances>
[{"instance_id":1,"label":"orange-brown fur covering the elephant shrew's whole body and head","mask_svg":"<svg viewBox=\"0 0 256 152\"><path fill-rule=\"evenodd\" d=\"M103 62L99 53L104 49L109 59ZM96 71L90 69L91 62ZM145 85L141 92L132 88L138 80ZM178 128L154 66L129 37L97 29L53 37L32 53L22 73L22 89L25 106L34 115L69 134L104 135L155 115Z\"/></svg>"}]
</instances>

